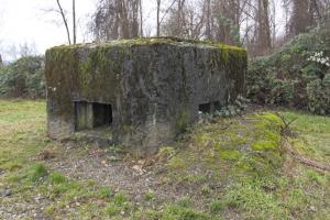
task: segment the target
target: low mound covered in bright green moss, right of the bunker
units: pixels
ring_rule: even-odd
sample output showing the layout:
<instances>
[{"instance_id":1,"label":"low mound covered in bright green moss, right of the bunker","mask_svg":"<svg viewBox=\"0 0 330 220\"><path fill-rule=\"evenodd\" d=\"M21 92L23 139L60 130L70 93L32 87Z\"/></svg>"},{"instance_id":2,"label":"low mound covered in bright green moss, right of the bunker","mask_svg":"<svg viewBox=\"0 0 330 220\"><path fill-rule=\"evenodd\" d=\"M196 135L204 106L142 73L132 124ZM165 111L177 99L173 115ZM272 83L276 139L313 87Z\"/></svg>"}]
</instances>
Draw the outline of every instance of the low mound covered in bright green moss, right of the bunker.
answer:
<instances>
[{"instance_id":1,"label":"low mound covered in bright green moss, right of the bunker","mask_svg":"<svg viewBox=\"0 0 330 220\"><path fill-rule=\"evenodd\" d=\"M270 112L198 124L186 136L186 146L168 161L169 175L191 182L206 175L206 179L276 175L283 162L280 125Z\"/></svg>"}]
</instances>

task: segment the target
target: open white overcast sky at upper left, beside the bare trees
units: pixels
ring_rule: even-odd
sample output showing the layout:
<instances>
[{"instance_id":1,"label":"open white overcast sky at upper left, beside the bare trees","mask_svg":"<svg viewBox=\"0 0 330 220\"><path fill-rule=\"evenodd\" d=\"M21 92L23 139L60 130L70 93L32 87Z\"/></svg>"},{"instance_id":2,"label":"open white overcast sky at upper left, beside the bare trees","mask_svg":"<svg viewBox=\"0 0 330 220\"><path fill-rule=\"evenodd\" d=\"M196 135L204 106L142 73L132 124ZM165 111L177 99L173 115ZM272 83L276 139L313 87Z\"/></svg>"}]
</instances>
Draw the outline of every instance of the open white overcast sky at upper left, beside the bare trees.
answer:
<instances>
[{"instance_id":1,"label":"open white overcast sky at upper left, beside the bare trees","mask_svg":"<svg viewBox=\"0 0 330 220\"><path fill-rule=\"evenodd\" d=\"M63 8L72 8L70 0L62 0ZM78 42L82 42L88 16L96 9L96 0L77 0ZM55 0L0 0L0 50L11 45L35 44L38 53L67 42ZM6 54L3 55L6 58ZM9 57L8 57L9 58Z\"/></svg>"}]
</instances>

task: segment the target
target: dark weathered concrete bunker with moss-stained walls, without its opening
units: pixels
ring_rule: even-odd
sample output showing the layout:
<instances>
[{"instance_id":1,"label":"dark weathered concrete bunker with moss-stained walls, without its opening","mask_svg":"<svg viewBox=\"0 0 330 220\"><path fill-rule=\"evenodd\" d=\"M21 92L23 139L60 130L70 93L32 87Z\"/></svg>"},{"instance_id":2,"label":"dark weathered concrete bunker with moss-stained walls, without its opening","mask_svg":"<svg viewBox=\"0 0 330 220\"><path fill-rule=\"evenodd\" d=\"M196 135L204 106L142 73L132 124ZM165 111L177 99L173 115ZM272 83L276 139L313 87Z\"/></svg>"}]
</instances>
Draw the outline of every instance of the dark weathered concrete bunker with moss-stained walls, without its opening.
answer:
<instances>
[{"instance_id":1,"label":"dark weathered concrete bunker with moss-stained walls, without its opening","mask_svg":"<svg viewBox=\"0 0 330 220\"><path fill-rule=\"evenodd\" d=\"M75 101L107 103L113 141L153 152L196 121L200 105L213 109L243 95L245 72L244 50L215 43L145 38L53 47L46 53L48 134L67 139L77 130Z\"/></svg>"}]
</instances>

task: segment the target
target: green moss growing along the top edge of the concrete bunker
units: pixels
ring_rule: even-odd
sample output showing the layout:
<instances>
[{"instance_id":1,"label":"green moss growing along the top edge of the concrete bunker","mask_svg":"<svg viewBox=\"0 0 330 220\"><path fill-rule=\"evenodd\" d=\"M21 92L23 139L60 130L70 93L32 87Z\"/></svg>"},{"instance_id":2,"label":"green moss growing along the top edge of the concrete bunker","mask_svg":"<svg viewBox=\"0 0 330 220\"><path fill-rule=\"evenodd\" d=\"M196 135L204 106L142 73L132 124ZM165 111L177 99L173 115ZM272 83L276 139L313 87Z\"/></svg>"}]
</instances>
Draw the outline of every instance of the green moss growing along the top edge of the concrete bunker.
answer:
<instances>
[{"instance_id":1,"label":"green moss growing along the top edge of the concrete bunker","mask_svg":"<svg viewBox=\"0 0 330 220\"><path fill-rule=\"evenodd\" d=\"M113 72L116 68L120 68L119 65L123 55L130 56L131 51L130 48L135 46L156 46L156 45L173 45L173 46L204 46L204 47L210 47L215 48L216 53L213 54L215 62L213 65L217 64L217 62L221 62L222 64L226 64L228 67L231 67L233 69L233 75L235 75L235 66L237 65L244 65L246 66L248 62L248 53L246 50L243 47L237 47L231 46L227 44L222 44L219 42L211 42L211 41L194 41L194 40L184 40L184 38L177 38L177 37L146 37L146 38L134 38L134 40L118 40L118 41L111 41L107 43L88 43L88 44L76 44L76 45L61 45L55 46L47 51L46 53L46 59L48 63L48 66L52 66L52 63L58 62L62 58L66 56L65 61L61 61L63 63L69 62L69 64L73 64L73 56L77 55L77 53L82 52L84 50L89 50L91 53L88 56L88 61L84 63L80 67L80 72L82 73L95 73L96 68L99 68L98 72L102 73L105 70L109 69ZM117 53L117 62L111 61L109 58L110 51L116 51ZM82 74L84 75L84 74ZM86 76L88 77L88 76ZM87 78L88 79L88 78Z\"/></svg>"}]
</instances>

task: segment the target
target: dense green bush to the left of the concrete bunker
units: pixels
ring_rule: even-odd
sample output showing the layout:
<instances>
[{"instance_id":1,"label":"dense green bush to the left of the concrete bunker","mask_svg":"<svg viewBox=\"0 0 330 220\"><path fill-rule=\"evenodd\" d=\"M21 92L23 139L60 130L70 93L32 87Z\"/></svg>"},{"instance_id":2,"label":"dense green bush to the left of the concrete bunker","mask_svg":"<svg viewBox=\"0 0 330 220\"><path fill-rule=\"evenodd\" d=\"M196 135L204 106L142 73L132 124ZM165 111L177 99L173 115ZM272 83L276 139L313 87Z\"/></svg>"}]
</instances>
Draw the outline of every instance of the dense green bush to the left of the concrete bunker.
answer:
<instances>
[{"instance_id":1,"label":"dense green bush to the left of the concrete bunker","mask_svg":"<svg viewBox=\"0 0 330 220\"><path fill-rule=\"evenodd\" d=\"M0 96L44 98L44 57L22 57L1 68Z\"/></svg>"}]
</instances>

